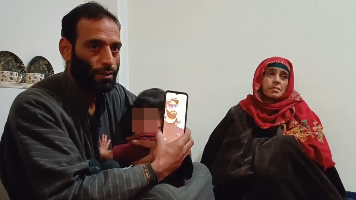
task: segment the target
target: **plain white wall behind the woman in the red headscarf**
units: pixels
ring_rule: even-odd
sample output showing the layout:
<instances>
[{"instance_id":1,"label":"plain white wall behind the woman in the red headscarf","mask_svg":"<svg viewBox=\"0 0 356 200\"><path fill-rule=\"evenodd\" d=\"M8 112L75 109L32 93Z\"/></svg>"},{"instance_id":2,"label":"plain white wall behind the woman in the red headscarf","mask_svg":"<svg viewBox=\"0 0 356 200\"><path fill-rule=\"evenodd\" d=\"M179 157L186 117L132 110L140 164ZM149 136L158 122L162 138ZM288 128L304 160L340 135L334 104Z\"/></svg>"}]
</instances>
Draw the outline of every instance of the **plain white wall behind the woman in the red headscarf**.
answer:
<instances>
[{"instance_id":1,"label":"plain white wall behind the woman in the red headscarf","mask_svg":"<svg viewBox=\"0 0 356 200\"><path fill-rule=\"evenodd\" d=\"M130 89L189 94L187 126L200 160L227 110L252 92L265 58L295 66L297 89L321 118L347 190L356 191L353 0L128 2Z\"/></svg>"}]
</instances>

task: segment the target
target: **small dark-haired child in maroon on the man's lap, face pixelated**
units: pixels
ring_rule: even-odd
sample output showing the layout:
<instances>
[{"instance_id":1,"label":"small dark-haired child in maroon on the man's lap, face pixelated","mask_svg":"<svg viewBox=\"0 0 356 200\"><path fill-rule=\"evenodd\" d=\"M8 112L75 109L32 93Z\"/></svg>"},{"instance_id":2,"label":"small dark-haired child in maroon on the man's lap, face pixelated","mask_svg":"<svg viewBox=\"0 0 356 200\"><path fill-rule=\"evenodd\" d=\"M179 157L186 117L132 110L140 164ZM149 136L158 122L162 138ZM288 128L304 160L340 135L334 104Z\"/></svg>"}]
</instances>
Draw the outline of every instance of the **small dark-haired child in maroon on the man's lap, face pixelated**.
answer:
<instances>
[{"instance_id":1,"label":"small dark-haired child in maroon on the man's lap, face pixelated","mask_svg":"<svg viewBox=\"0 0 356 200\"><path fill-rule=\"evenodd\" d=\"M164 91L158 88L144 90L137 96L132 107L132 132L134 134L126 138L123 144L114 146L112 150L108 150L111 141L108 140L106 135L103 135L101 140L99 140L101 158L115 160L120 166L137 165L152 160L152 158L146 157L150 154L150 149L137 146L132 141L156 140L156 132L161 130L162 118L164 116ZM183 186L184 175L181 174L185 174L186 172L189 174L193 170L190 156L189 159L188 165L185 164L188 167L183 167L184 169L180 169L180 172L173 173L163 183Z\"/></svg>"}]
</instances>

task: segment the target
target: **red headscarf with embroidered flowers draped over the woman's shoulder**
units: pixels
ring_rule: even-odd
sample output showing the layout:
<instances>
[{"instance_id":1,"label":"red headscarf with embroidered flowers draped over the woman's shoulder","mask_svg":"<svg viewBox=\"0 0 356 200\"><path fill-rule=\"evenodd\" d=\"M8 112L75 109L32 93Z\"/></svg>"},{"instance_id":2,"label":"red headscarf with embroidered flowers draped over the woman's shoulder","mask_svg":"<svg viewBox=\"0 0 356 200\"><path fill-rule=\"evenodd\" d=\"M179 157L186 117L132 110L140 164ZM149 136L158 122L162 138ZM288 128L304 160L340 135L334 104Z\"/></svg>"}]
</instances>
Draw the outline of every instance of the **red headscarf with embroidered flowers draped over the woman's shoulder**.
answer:
<instances>
[{"instance_id":1,"label":"red headscarf with embroidered flowers draped over the woman's shoulder","mask_svg":"<svg viewBox=\"0 0 356 200\"><path fill-rule=\"evenodd\" d=\"M269 63L284 64L290 72L286 92L281 100L274 104L267 104L261 99L263 94L260 88ZM300 94L294 90L293 65L289 60L281 57L263 60L256 69L252 86L253 95L247 95L247 98L240 101L239 105L253 117L258 127L269 128L283 125L284 134L295 136L304 153L316 164L324 170L335 165L319 117L310 110Z\"/></svg>"}]
</instances>

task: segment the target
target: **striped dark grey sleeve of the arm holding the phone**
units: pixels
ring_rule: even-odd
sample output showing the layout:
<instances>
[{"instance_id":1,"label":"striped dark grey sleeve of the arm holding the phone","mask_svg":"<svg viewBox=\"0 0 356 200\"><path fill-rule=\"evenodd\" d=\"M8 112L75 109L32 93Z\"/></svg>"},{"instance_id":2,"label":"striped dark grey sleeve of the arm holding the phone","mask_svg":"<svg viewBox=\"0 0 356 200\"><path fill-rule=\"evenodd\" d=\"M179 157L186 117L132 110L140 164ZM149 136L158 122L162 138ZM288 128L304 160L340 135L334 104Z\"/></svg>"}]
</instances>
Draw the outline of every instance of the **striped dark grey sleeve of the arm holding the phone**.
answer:
<instances>
[{"instance_id":1,"label":"striped dark grey sleeve of the arm holding the phone","mask_svg":"<svg viewBox=\"0 0 356 200\"><path fill-rule=\"evenodd\" d=\"M150 163L91 175L89 161L64 128L70 120L46 101L51 99L17 100L9 116L21 155L14 159L25 165L37 199L133 199L158 183Z\"/></svg>"}]
</instances>

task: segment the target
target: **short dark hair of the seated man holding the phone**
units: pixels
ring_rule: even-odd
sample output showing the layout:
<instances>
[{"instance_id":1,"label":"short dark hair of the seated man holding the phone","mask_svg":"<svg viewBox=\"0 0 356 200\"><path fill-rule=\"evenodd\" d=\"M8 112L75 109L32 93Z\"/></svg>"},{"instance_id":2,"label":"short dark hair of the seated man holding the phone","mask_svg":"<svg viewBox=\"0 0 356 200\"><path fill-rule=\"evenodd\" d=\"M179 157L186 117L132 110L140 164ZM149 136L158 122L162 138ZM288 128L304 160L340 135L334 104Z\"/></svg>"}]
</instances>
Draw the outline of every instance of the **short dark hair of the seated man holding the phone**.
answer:
<instances>
[{"instance_id":1,"label":"short dark hair of the seated man holding the phone","mask_svg":"<svg viewBox=\"0 0 356 200\"><path fill-rule=\"evenodd\" d=\"M85 4L78 5L62 18L61 35L62 37L67 38L67 40L74 46L78 36L77 26L79 20L83 18L101 20L104 17L115 21L121 30L119 20L107 7L95 1L89 1Z\"/></svg>"}]
</instances>

